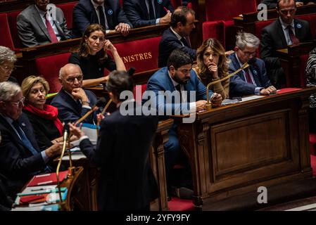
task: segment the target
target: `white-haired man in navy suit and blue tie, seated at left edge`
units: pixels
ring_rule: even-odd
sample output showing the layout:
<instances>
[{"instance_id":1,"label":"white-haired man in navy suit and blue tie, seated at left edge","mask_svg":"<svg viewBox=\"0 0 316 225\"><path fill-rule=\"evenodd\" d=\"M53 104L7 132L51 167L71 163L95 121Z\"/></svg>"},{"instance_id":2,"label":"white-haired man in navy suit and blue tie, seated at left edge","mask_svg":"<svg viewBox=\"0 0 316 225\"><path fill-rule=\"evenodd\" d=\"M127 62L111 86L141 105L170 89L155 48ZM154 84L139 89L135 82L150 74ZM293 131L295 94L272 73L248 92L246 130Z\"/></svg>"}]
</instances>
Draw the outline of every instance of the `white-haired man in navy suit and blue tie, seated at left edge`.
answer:
<instances>
[{"instance_id":1,"label":"white-haired man in navy suit and blue tie, seated at left edge","mask_svg":"<svg viewBox=\"0 0 316 225\"><path fill-rule=\"evenodd\" d=\"M13 82L0 83L0 173L6 176L8 194L15 197L25 183L40 172L52 172L51 159L61 153L61 144L55 143L40 150L24 106L22 91Z\"/></svg>"}]
</instances>

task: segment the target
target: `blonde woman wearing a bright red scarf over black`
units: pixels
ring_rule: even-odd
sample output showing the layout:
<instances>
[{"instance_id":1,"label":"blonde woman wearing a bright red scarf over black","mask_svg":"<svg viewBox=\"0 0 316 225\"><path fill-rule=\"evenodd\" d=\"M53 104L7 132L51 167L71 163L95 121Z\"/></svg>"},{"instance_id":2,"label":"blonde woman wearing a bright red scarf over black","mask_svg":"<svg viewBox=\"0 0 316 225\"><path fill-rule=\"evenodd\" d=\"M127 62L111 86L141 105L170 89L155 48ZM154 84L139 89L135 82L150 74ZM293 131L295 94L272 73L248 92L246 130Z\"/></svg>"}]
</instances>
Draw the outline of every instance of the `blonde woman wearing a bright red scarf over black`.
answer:
<instances>
[{"instance_id":1,"label":"blonde woman wearing a bright red scarf over black","mask_svg":"<svg viewBox=\"0 0 316 225\"><path fill-rule=\"evenodd\" d=\"M58 109L46 104L49 83L43 77L30 76L23 80L21 87L25 97L23 112L32 123L39 148L63 141L63 124L58 119Z\"/></svg>"}]
</instances>

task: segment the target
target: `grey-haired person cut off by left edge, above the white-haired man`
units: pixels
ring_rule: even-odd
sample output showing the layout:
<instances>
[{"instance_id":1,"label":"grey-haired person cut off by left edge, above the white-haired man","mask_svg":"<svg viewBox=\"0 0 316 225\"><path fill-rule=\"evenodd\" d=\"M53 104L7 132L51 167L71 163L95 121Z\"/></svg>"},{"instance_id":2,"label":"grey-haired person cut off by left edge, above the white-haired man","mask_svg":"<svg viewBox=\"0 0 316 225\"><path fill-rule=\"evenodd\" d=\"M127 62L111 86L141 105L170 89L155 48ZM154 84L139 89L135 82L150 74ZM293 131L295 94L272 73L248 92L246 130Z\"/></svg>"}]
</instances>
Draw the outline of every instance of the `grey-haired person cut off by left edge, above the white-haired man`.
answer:
<instances>
[{"instance_id":1,"label":"grey-haired person cut off by left edge, above the white-haired man","mask_svg":"<svg viewBox=\"0 0 316 225\"><path fill-rule=\"evenodd\" d=\"M0 82L15 82L17 80L10 76L14 70L14 63L16 62L16 56L11 49L0 46Z\"/></svg>"}]
</instances>

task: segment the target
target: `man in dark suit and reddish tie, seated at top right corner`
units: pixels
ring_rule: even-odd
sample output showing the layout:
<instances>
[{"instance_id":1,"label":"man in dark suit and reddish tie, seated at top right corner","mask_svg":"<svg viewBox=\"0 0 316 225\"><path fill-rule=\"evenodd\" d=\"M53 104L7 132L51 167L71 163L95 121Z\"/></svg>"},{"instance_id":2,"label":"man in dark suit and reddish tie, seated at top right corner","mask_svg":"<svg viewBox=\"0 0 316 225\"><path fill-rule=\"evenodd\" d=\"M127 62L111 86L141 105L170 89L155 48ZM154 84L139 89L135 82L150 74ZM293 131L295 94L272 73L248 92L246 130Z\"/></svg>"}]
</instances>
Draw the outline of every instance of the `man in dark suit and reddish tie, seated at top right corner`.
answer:
<instances>
[{"instance_id":1,"label":"man in dark suit and reddish tie, seated at top right corner","mask_svg":"<svg viewBox=\"0 0 316 225\"><path fill-rule=\"evenodd\" d=\"M277 1L279 19L267 25L261 32L260 56L265 61L267 75L272 84L279 89L285 84L284 70L281 68L277 49L286 49L288 45L312 40L308 21L294 18L296 4L294 0Z\"/></svg>"}]
</instances>

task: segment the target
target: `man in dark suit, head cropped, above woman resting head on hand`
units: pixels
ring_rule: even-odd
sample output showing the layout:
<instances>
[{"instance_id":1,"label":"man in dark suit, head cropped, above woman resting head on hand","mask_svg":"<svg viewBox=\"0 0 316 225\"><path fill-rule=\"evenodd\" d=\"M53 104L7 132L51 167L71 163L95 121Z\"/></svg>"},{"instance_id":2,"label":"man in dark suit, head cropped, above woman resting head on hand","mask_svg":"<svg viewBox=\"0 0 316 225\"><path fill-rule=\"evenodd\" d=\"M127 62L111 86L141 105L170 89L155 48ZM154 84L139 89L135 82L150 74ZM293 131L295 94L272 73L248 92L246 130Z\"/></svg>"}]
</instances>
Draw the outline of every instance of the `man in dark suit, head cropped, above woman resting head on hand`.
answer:
<instances>
[{"instance_id":1,"label":"man in dark suit, head cropped, above woman resting head on hand","mask_svg":"<svg viewBox=\"0 0 316 225\"><path fill-rule=\"evenodd\" d=\"M123 36L133 27L118 0L80 0L73 9L72 35L81 37L91 23L99 23L106 30L115 30Z\"/></svg>"}]
</instances>

